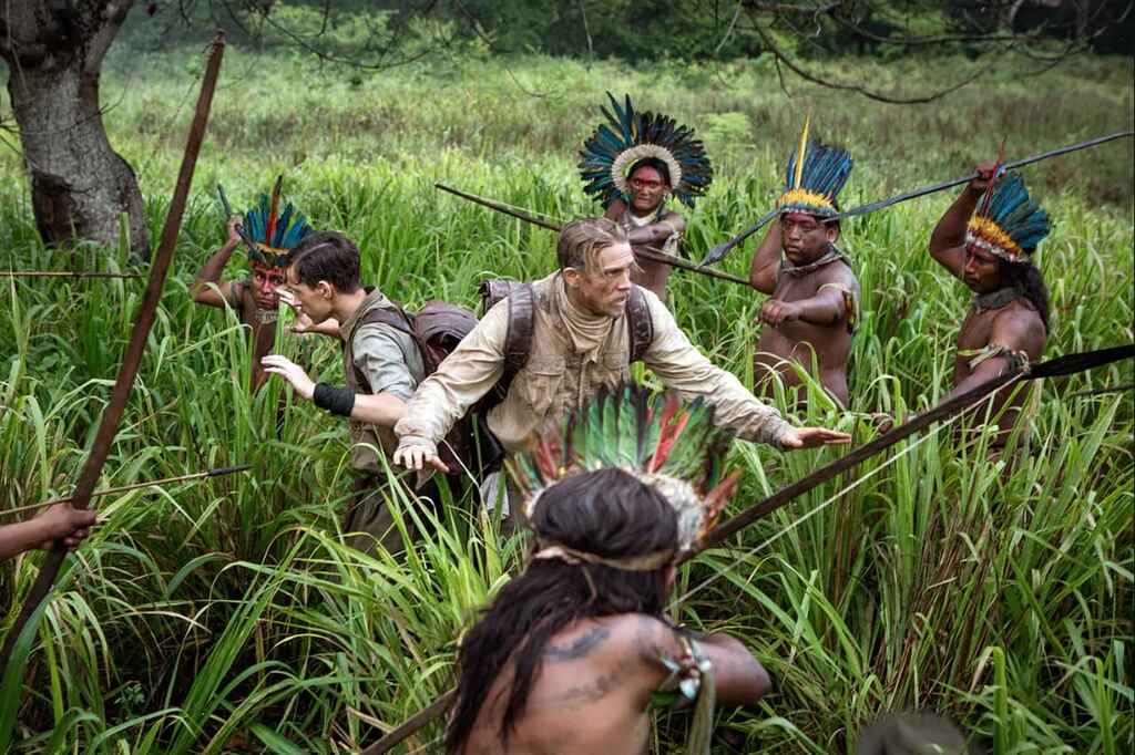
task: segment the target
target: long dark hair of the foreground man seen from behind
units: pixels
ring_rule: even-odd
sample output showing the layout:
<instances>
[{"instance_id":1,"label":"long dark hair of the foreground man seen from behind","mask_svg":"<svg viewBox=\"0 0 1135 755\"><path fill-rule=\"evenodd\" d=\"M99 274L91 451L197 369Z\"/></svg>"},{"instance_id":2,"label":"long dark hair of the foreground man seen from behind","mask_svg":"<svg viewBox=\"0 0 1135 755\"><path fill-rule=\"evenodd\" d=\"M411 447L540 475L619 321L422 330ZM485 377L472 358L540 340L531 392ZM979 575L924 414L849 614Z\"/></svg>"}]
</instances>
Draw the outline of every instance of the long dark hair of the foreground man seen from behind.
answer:
<instances>
[{"instance_id":1,"label":"long dark hair of the foreground man seen from behind","mask_svg":"<svg viewBox=\"0 0 1135 755\"><path fill-rule=\"evenodd\" d=\"M620 469L588 472L550 487L532 515L545 541L603 558L644 555L678 545L678 516L654 489ZM560 559L533 560L513 578L469 630L457 656L460 679L446 750L463 752L477 714L511 661L512 684L501 741L523 714L552 637L579 619L619 613L662 618L666 568L624 571Z\"/></svg>"}]
</instances>

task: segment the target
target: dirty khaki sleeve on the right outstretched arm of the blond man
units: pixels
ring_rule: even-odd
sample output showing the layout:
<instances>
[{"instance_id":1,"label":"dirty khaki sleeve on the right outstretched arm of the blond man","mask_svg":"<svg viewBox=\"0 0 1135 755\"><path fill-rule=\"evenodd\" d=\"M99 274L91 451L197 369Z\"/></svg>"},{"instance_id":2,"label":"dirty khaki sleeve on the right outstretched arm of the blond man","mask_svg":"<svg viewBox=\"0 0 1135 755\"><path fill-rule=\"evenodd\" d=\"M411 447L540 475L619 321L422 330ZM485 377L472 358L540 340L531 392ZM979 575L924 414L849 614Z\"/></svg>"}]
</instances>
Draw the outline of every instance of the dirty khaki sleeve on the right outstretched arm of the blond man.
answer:
<instances>
[{"instance_id":1,"label":"dirty khaki sleeve on the right outstretched arm of the blond man","mask_svg":"<svg viewBox=\"0 0 1135 755\"><path fill-rule=\"evenodd\" d=\"M722 370L693 348L674 316L657 296L644 291L650 305L654 340L644 355L646 365L667 388L683 398L704 397L714 405L714 417L737 436L781 447L785 431L791 429L780 412L750 393L730 372Z\"/></svg>"}]
</instances>

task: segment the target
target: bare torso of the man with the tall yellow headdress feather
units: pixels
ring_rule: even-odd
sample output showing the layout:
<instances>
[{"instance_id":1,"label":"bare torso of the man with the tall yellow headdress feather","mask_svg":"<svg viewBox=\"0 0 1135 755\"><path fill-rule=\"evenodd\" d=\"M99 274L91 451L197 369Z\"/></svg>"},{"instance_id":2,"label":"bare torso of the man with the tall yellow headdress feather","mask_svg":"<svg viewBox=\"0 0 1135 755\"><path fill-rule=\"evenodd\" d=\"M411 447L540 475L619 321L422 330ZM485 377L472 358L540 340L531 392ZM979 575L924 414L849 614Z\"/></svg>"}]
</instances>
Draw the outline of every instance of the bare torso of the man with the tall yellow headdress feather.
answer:
<instances>
[{"instance_id":1,"label":"bare torso of the man with the tall yellow headdress feather","mask_svg":"<svg viewBox=\"0 0 1135 755\"><path fill-rule=\"evenodd\" d=\"M801 302L823 290L847 290L859 298L859 281L843 262L832 262L802 275L781 273L776 278L772 298L780 302ZM855 306L849 303L850 306ZM779 374L787 388L801 384L800 378L788 363L801 365L808 374L813 360L818 367L819 382L841 405L848 405L847 364L851 353L851 332L848 317L851 311L832 324L815 324L792 320L773 328L764 325L754 357L755 380L762 395L772 392L773 374Z\"/></svg>"}]
</instances>

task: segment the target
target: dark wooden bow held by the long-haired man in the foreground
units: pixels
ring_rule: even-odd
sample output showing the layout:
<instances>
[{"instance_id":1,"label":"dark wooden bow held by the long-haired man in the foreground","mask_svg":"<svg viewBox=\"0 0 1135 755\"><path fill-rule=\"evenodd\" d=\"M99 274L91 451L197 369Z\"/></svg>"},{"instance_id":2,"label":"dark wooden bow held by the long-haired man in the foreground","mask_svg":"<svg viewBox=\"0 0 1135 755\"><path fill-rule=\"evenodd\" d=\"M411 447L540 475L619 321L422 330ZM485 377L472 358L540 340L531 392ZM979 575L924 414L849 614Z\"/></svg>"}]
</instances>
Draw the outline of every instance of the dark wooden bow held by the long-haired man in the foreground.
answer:
<instances>
[{"instance_id":1,"label":"dark wooden bow held by the long-haired man in the foreground","mask_svg":"<svg viewBox=\"0 0 1135 755\"><path fill-rule=\"evenodd\" d=\"M987 397L990 393L993 393L1009 383L1016 381L1039 380L1041 378L1060 378L1062 375L1071 375L1077 372L1084 372L1086 370L1092 370L1093 367L1100 367L1113 362L1119 362L1120 359L1130 358L1135 358L1135 343L1117 346L1108 349L1099 349L1095 351L1085 351L1082 354L1069 354L1048 362L1026 365L1016 370L1008 370L1001 375L985 381L981 385L975 385L965 393L960 393L951 399L942 401L928 412L915 416L909 422L906 422L880 435L869 443L860 446L846 456L842 456L831 464L816 469L807 477L798 480L787 487L782 487L768 498L758 501L757 503L746 508L740 514L726 519L711 529L695 549L682 557L679 563L686 563L687 561L696 558L703 551L715 545L720 545L745 527L748 527L758 519L763 519L776 509L788 506L794 499L804 495L817 485L827 482L832 477L835 477L848 469L859 466L866 459L881 453L885 449L894 446L906 438L909 438L919 430L923 430L940 419L945 419L947 417L956 415L959 412L964 412ZM362 750L361 755L381 755L382 753L388 753L427 723L439 718L447 710L449 710L455 695L456 690L454 689L443 693L427 707L418 711L418 713L406 719L406 721L400 727L387 733L370 747Z\"/></svg>"}]
</instances>

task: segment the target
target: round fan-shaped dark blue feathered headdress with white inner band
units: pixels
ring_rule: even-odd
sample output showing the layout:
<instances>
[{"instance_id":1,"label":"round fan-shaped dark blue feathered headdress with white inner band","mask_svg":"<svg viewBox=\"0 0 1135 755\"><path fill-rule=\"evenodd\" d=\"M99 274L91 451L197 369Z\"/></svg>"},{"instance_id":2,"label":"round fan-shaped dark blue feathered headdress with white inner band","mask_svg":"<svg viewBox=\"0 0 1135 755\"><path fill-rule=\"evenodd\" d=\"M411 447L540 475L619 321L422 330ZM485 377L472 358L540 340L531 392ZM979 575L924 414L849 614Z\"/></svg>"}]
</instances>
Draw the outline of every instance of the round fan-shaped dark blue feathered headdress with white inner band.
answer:
<instances>
[{"instance_id":1,"label":"round fan-shaped dark blue feathered headdress with white inner band","mask_svg":"<svg viewBox=\"0 0 1135 755\"><path fill-rule=\"evenodd\" d=\"M630 201L628 171L644 158L657 158L670 169L671 190L688 207L713 183L713 166L705 145L693 138L693 129L679 126L663 113L639 112L631 104L620 107L607 92L612 111L600 108L607 117L590 138L583 142L579 172L583 192L606 207L617 198Z\"/></svg>"}]
</instances>

